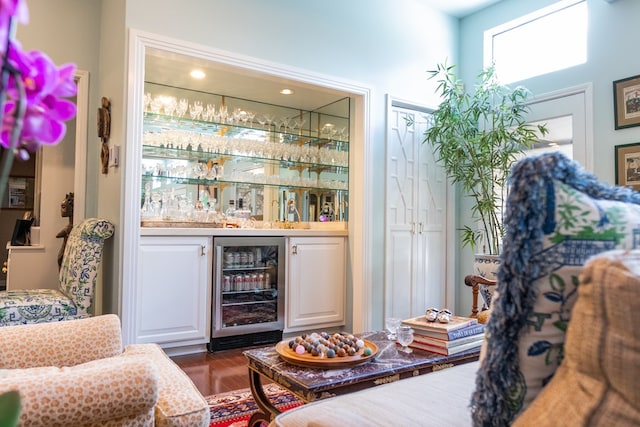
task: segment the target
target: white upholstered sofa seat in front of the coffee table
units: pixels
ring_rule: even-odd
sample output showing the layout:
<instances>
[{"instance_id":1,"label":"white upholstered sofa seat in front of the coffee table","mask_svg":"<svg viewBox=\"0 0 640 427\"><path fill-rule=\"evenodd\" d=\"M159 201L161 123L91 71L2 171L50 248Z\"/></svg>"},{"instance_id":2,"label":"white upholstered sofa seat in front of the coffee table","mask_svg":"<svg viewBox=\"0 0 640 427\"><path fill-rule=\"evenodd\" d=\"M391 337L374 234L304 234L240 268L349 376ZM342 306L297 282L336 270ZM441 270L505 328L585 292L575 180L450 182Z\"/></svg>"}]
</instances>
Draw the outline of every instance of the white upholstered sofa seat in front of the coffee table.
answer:
<instances>
[{"instance_id":1,"label":"white upholstered sofa seat in front of the coffee table","mask_svg":"<svg viewBox=\"0 0 640 427\"><path fill-rule=\"evenodd\" d=\"M469 427L469 399L478 363L467 363L309 403L276 417L270 427Z\"/></svg>"}]
</instances>

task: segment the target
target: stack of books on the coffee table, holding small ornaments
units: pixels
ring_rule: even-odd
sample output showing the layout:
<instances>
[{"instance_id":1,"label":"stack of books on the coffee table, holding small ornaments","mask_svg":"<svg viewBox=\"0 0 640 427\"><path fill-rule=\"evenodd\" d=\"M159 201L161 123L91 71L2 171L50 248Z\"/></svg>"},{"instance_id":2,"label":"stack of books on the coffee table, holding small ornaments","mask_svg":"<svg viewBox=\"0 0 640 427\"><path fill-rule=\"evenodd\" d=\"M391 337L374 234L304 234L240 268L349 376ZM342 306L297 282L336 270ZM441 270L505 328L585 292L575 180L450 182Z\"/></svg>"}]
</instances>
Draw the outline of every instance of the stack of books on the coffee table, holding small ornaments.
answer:
<instances>
[{"instance_id":1,"label":"stack of books on the coffee table, holding small ornaments","mask_svg":"<svg viewBox=\"0 0 640 427\"><path fill-rule=\"evenodd\" d=\"M451 316L451 322L427 322L425 316L403 320L414 330L409 347L451 356L480 348L484 340L484 324L471 317Z\"/></svg>"}]
</instances>

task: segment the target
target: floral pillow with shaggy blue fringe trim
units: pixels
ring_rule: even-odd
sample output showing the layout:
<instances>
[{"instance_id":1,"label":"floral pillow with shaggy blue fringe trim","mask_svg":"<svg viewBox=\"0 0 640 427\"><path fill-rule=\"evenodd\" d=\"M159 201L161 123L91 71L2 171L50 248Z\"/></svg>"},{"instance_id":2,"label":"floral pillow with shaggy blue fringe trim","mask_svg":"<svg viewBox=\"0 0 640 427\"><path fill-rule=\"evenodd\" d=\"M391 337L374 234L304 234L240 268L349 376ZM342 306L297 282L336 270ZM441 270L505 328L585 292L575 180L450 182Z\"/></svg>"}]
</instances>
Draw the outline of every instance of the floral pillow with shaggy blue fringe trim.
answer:
<instances>
[{"instance_id":1,"label":"floral pillow with shaggy blue fringe trim","mask_svg":"<svg viewBox=\"0 0 640 427\"><path fill-rule=\"evenodd\" d=\"M509 425L553 377L586 260L640 247L640 193L599 183L560 153L521 160L510 183L476 426Z\"/></svg>"}]
</instances>

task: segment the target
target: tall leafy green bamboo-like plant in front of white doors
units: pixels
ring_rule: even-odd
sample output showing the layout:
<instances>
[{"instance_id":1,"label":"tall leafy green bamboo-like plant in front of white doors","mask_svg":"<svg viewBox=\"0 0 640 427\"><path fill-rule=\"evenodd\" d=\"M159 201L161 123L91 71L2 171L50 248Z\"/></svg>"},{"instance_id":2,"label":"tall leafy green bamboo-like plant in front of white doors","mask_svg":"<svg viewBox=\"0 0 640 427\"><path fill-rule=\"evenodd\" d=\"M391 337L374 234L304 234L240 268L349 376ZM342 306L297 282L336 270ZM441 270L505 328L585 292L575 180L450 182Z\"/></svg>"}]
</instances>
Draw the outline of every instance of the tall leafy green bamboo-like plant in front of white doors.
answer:
<instances>
[{"instance_id":1,"label":"tall leafy green bamboo-like plant in front of white doors","mask_svg":"<svg viewBox=\"0 0 640 427\"><path fill-rule=\"evenodd\" d=\"M463 247L480 249L476 258L490 255L497 263L511 166L547 129L526 122L531 93L522 86L501 85L493 66L477 76L473 93L465 90L454 68L445 63L428 72L438 78L436 93L442 102L423 143L434 147L451 182L473 200L471 222L461 229Z\"/></svg>"}]
</instances>

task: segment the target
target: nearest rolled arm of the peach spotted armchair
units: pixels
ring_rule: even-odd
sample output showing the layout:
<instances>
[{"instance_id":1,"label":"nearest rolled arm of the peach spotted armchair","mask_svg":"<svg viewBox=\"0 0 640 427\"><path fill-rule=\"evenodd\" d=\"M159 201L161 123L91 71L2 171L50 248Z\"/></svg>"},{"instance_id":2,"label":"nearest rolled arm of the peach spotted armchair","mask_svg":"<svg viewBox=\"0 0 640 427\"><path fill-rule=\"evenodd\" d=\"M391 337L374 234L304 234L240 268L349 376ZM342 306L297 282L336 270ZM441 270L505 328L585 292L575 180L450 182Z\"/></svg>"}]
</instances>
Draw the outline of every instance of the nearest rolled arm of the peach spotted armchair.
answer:
<instances>
[{"instance_id":1,"label":"nearest rolled arm of the peach spotted armchair","mask_svg":"<svg viewBox=\"0 0 640 427\"><path fill-rule=\"evenodd\" d=\"M20 393L20 421L29 427L153 426L157 381L155 366L143 357L0 369L0 393Z\"/></svg>"}]
</instances>

